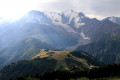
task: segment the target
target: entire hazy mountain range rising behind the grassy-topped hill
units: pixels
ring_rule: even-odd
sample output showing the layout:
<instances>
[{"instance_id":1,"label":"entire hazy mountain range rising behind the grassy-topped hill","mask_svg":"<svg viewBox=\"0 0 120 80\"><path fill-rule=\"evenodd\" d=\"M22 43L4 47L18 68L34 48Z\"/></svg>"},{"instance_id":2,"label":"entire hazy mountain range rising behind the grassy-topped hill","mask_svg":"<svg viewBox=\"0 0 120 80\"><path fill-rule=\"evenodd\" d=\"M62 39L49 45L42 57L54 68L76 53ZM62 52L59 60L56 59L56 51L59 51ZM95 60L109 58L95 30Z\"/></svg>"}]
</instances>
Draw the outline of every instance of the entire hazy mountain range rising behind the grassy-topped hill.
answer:
<instances>
[{"instance_id":1,"label":"entire hazy mountain range rising behind the grassy-topped hill","mask_svg":"<svg viewBox=\"0 0 120 80\"><path fill-rule=\"evenodd\" d=\"M61 50L60 55L67 52L64 50L78 50L104 64L119 63L119 22L119 17L91 19L73 10L61 13L32 10L17 21L0 24L0 67L5 69L5 65L13 62L16 65L18 60L32 61L34 56L42 54L39 52L43 49L53 50L53 53Z\"/></svg>"}]
</instances>

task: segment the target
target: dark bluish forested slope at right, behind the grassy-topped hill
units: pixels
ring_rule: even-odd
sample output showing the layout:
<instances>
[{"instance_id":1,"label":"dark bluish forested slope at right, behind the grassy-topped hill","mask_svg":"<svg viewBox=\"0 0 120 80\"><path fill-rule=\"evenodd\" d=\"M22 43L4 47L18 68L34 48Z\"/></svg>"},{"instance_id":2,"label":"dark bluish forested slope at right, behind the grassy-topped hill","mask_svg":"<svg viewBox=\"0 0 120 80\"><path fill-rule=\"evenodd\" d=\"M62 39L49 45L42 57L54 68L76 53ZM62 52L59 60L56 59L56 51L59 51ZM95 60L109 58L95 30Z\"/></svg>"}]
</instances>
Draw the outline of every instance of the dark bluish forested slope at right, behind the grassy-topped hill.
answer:
<instances>
[{"instance_id":1,"label":"dark bluish forested slope at right, behind the grassy-topped hill","mask_svg":"<svg viewBox=\"0 0 120 80\"><path fill-rule=\"evenodd\" d=\"M120 63L120 38L79 46L77 50L89 52L105 64Z\"/></svg>"}]
</instances>

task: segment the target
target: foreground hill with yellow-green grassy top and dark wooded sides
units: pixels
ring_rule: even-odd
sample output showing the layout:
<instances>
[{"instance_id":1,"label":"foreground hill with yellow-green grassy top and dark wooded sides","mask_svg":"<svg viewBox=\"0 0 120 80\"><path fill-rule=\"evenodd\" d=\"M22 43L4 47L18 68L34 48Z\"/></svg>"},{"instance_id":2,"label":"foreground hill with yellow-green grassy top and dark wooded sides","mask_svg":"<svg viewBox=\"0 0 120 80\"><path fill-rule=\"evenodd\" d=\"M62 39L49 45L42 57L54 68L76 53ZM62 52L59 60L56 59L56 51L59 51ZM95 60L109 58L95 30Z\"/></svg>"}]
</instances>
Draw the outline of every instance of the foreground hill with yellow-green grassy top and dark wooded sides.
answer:
<instances>
[{"instance_id":1,"label":"foreground hill with yellow-green grassy top and dark wooded sides","mask_svg":"<svg viewBox=\"0 0 120 80\"><path fill-rule=\"evenodd\" d=\"M80 51L41 51L29 60L21 60L3 67L0 80L19 76L43 74L54 70L81 71L103 65L94 57Z\"/></svg>"}]
</instances>

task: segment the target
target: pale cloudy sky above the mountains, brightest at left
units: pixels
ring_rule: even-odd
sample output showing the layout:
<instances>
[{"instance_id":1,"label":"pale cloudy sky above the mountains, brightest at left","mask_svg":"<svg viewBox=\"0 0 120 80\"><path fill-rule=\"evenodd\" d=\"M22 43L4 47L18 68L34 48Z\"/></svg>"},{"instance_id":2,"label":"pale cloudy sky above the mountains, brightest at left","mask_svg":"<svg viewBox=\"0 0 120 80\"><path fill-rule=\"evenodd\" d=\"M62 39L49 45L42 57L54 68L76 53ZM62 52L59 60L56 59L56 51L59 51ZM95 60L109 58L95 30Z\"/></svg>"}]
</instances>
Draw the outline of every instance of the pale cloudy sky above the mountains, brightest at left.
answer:
<instances>
[{"instance_id":1,"label":"pale cloudy sky above the mountains, brightest at left","mask_svg":"<svg viewBox=\"0 0 120 80\"><path fill-rule=\"evenodd\" d=\"M29 10L57 11L73 9L89 17L120 17L120 0L0 0L0 16L8 18Z\"/></svg>"}]
</instances>

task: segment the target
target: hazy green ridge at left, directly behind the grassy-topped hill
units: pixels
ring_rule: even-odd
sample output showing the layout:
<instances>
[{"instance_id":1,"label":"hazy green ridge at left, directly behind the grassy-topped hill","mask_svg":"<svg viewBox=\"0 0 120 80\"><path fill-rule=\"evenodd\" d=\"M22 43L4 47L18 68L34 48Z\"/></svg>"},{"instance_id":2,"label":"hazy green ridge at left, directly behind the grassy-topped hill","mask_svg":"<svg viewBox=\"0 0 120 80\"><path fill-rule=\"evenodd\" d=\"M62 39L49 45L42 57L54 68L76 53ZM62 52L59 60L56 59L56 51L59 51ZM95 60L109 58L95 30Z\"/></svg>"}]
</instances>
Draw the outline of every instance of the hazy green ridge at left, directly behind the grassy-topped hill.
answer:
<instances>
[{"instance_id":1,"label":"hazy green ridge at left, directly behind the grassy-topped hill","mask_svg":"<svg viewBox=\"0 0 120 80\"><path fill-rule=\"evenodd\" d=\"M41 49L55 49L55 47L36 38L27 38L10 48L0 51L0 67L17 60L29 59Z\"/></svg>"}]
</instances>

